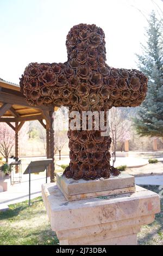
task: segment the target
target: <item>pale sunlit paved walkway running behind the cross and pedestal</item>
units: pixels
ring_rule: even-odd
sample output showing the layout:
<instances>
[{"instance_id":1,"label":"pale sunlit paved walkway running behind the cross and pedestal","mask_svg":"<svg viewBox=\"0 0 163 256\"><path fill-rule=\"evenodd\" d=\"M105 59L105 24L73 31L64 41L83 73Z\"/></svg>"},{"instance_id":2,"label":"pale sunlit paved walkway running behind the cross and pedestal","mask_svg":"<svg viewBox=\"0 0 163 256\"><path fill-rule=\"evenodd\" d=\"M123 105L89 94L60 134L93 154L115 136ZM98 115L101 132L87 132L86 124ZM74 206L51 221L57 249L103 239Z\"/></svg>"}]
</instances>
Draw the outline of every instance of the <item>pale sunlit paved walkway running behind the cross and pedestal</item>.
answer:
<instances>
[{"instance_id":1,"label":"pale sunlit paved walkway running behind the cross and pedestal","mask_svg":"<svg viewBox=\"0 0 163 256\"><path fill-rule=\"evenodd\" d=\"M40 157L41 159L43 157ZM23 159L23 172L32 159ZM36 160L36 159L35 159ZM68 164L70 161L68 156L62 157L57 160L57 169L61 169L61 164ZM129 167L126 172L134 175L135 183L137 185L163 185L163 163L147 164L148 159L141 159L140 157L117 157L115 166L126 164ZM140 168L134 168L134 166L141 166ZM143 176L142 176L143 175ZM45 173L39 175L31 175L31 198L41 196L41 185L46 182ZM50 182L48 178L48 182ZM28 200L29 194L29 175L22 175L21 184L14 184L9 187L7 192L0 193L0 210L7 207L9 204L15 204ZM2 205L3 204L3 205Z\"/></svg>"}]
</instances>

